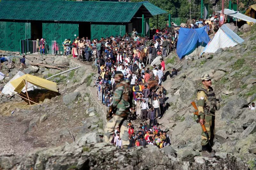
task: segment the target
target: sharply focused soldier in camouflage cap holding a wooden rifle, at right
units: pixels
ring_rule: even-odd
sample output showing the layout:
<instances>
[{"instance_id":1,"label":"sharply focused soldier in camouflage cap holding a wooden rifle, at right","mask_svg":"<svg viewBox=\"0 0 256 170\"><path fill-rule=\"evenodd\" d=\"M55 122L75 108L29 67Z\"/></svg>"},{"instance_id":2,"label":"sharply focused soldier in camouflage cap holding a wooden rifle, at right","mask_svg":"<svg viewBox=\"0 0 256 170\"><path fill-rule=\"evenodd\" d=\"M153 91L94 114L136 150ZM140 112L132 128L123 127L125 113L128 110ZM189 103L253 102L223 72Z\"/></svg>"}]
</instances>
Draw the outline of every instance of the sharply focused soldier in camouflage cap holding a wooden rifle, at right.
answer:
<instances>
[{"instance_id":1,"label":"sharply focused soldier in camouflage cap holding a wooden rifle, at right","mask_svg":"<svg viewBox=\"0 0 256 170\"><path fill-rule=\"evenodd\" d=\"M201 76L203 86L197 90L197 106L198 114L200 115L200 124L205 125L205 128L209 135L208 143L207 137L202 132L202 156L214 157L215 152L212 149L213 139L215 135L215 111L217 110L217 103L215 93L211 87L212 81L208 74L203 74Z\"/></svg>"}]
</instances>

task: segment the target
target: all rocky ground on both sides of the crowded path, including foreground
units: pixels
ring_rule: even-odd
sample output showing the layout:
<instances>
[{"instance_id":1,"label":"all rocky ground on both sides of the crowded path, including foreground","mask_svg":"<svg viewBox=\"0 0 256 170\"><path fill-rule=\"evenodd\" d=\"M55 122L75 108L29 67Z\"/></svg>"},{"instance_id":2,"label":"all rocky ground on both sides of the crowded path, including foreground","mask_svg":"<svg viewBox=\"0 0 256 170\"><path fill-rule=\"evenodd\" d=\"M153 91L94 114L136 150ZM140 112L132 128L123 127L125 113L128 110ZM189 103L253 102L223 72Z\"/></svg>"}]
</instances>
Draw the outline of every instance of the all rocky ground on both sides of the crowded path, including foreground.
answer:
<instances>
[{"instance_id":1,"label":"all rocky ground on both sides of the crowded path, including foreground","mask_svg":"<svg viewBox=\"0 0 256 170\"><path fill-rule=\"evenodd\" d=\"M162 84L168 94L166 111L159 123L161 129L168 130L172 146L160 150L148 146L125 151L101 142L98 135L103 134L106 111L95 97L93 81L98 75L91 63L28 57L34 64L55 65L58 60L59 65L68 62L69 68L82 67L51 79L57 83L59 93L31 92L29 95L39 105L29 107L18 97L0 96L0 169L255 168L255 110L249 110L248 105L256 102L256 27L240 36L244 43L218 49L214 54L181 61L175 55L165 59L166 74L176 68L178 76L167 76ZM10 73L5 71L9 79L18 72L15 68ZM43 78L60 72L41 66L29 66L27 71ZM212 87L221 101L213 146L217 157L213 159L199 157L201 127L195 122L190 105L201 85L201 73L210 74ZM133 122L135 131L139 123ZM188 154L195 156L194 162L181 160Z\"/></svg>"}]
</instances>

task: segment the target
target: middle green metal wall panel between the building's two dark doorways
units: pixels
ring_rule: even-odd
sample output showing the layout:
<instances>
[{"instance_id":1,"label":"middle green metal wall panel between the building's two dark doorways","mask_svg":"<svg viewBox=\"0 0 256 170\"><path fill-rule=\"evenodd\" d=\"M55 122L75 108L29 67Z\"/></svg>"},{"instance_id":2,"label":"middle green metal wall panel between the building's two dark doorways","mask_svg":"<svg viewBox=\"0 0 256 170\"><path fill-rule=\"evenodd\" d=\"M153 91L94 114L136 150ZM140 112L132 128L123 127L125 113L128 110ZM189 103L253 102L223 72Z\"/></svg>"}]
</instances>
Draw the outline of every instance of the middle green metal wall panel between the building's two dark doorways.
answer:
<instances>
[{"instance_id":1,"label":"middle green metal wall panel between the building's two dark doorways","mask_svg":"<svg viewBox=\"0 0 256 170\"><path fill-rule=\"evenodd\" d=\"M46 41L64 41L68 38L73 41L78 33L78 24L43 23L43 38Z\"/></svg>"}]
</instances>

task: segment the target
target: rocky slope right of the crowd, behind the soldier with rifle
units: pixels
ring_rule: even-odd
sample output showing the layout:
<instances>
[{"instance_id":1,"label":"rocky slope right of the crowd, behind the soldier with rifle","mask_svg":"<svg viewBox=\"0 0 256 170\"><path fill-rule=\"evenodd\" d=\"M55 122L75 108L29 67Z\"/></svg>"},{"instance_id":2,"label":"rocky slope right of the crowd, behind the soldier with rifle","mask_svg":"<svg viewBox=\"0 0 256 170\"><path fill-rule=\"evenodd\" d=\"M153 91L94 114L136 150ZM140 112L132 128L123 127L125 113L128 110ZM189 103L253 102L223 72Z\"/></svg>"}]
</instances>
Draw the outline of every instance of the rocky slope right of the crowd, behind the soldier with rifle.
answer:
<instances>
[{"instance_id":1,"label":"rocky slope right of the crowd, behind the soldier with rifle","mask_svg":"<svg viewBox=\"0 0 256 170\"><path fill-rule=\"evenodd\" d=\"M170 130L178 157L200 154L201 128L195 122L190 102L195 100L196 89L201 85L200 75L208 73L221 101L216 112L213 148L236 155L255 168L256 112L248 106L256 102L256 27L241 37L244 43L218 49L199 59L178 61L175 56L167 59L167 67L176 68L179 73L163 83L169 107L164 115L168 123L162 126Z\"/></svg>"}]
</instances>

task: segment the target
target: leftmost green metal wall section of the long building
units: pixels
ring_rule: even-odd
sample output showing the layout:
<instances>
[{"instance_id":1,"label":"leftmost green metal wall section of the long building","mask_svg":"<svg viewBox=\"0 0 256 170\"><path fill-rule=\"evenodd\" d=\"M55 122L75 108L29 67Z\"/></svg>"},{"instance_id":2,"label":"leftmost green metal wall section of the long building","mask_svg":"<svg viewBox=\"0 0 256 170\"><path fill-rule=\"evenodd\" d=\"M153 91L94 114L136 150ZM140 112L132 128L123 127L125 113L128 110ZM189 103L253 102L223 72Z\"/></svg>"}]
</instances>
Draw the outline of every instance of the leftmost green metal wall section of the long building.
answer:
<instances>
[{"instance_id":1,"label":"leftmost green metal wall section of the long building","mask_svg":"<svg viewBox=\"0 0 256 170\"><path fill-rule=\"evenodd\" d=\"M20 52L20 40L29 38L31 23L0 21L0 50Z\"/></svg>"}]
</instances>

